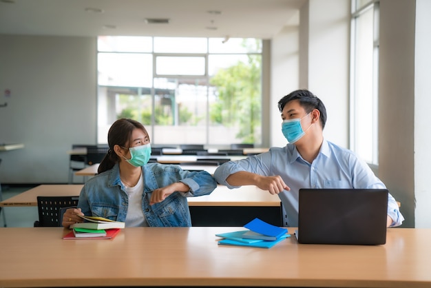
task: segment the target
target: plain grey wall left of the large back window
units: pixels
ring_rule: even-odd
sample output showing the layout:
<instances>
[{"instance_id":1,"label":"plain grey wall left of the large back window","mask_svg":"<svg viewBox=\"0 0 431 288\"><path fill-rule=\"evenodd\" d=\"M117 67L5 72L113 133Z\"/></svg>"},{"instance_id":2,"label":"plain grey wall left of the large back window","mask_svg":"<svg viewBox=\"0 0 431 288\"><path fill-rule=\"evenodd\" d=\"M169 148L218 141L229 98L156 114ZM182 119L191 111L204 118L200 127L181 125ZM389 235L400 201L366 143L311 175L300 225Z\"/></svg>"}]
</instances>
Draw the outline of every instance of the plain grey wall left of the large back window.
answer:
<instances>
[{"instance_id":1,"label":"plain grey wall left of the large back window","mask_svg":"<svg viewBox=\"0 0 431 288\"><path fill-rule=\"evenodd\" d=\"M1 183L67 183L72 143L96 143L96 39L0 35ZM11 90L10 96L4 91Z\"/></svg>"}]
</instances>

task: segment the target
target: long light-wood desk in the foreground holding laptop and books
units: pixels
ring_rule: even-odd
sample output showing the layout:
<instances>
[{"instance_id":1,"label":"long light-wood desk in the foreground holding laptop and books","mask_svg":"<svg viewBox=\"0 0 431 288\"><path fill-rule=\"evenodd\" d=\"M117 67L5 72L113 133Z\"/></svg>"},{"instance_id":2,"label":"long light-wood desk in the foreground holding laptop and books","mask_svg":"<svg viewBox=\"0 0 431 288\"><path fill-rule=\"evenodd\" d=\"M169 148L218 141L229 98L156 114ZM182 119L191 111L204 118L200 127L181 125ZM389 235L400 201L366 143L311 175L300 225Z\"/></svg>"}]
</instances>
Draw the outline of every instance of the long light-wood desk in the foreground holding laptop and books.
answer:
<instances>
[{"instance_id":1,"label":"long light-wood desk in the foreground holding laptop and books","mask_svg":"<svg viewBox=\"0 0 431 288\"><path fill-rule=\"evenodd\" d=\"M388 229L386 245L271 249L217 244L242 227L125 228L63 240L61 227L0 228L0 287L430 287L431 229ZM294 228L289 228L292 233Z\"/></svg>"}]
</instances>

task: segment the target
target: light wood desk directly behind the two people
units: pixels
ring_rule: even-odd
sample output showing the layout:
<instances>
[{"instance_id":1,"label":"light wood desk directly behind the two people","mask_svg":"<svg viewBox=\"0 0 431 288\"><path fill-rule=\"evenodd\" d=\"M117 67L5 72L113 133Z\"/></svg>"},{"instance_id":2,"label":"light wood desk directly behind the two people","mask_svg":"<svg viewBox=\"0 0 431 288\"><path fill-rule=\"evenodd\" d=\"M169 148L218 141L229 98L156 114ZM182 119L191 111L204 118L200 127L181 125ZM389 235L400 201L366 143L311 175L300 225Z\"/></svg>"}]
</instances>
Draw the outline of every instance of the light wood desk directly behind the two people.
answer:
<instances>
[{"instance_id":1,"label":"light wood desk directly behind the two people","mask_svg":"<svg viewBox=\"0 0 431 288\"><path fill-rule=\"evenodd\" d=\"M79 196L83 184L39 185L0 202L0 207L37 206L37 196ZM193 226L242 226L253 218L282 225L280 198L255 186L218 185L210 195L187 198Z\"/></svg>"}]
</instances>

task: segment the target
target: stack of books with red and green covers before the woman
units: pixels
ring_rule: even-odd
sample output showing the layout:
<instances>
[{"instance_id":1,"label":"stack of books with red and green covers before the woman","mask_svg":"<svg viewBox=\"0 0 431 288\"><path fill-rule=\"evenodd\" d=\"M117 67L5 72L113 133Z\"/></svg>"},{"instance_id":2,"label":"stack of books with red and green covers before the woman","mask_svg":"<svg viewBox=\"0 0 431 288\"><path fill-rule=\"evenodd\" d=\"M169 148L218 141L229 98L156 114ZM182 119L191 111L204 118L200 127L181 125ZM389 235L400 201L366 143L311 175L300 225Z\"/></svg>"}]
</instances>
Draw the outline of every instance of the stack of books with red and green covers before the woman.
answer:
<instances>
[{"instance_id":1,"label":"stack of books with red and green covers before the woman","mask_svg":"<svg viewBox=\"0 0 431 288\"><path fill-rule=\"evenodd\" d=\"M125 227L124 222L109 220L103 217L81 216L83 223L71 225L72 231L63 239L112 239Z\"/></svg>"}]
</instances>

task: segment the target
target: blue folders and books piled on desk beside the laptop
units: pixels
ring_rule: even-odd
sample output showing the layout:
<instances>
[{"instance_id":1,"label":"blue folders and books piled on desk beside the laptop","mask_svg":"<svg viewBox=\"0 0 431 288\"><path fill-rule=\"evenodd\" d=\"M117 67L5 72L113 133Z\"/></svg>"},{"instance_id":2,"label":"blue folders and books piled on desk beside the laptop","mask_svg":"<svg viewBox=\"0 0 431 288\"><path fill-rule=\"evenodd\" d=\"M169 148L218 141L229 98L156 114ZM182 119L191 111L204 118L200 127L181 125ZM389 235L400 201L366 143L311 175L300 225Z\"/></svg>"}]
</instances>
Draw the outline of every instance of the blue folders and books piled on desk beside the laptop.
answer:
<instances>
[{"instance_id":1,"label":"blue folders and books piled on desk beside the laptop","mask_svg":"<svg viewBox=\"0 0 431 288\"><path fill-rule=\"evenodd\" d=\"M215 234L223 238L219 245L249 246L257 248L271 248L285 238L291 236L286 228L266 223L259 218L244 225L247 230Z\"/></svg>"}]
</instances>

